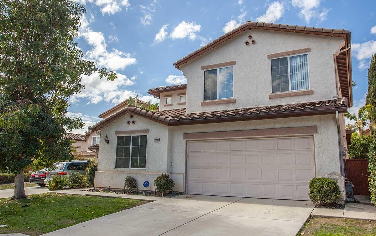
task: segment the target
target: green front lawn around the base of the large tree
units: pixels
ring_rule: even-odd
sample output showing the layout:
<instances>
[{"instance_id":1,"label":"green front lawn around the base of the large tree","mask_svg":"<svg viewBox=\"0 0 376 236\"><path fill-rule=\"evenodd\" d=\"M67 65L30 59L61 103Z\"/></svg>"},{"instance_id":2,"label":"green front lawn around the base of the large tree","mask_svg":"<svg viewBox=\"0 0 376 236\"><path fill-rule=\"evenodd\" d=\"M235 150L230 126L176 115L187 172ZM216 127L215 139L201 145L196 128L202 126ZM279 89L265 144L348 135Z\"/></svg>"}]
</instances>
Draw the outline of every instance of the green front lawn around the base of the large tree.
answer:
<instances>
[{"instance_id":1,"label":"green front lawn around the base of the large tree","mask_svg":"<svg viewBox=\"0 0 376 236\"><path fill-rule=\"evenodd\" d=\"M135 199L35 194L27 199L0 199L2 233L41 235L146 202ZM29 205L29 206L26 206Z\"/></svg>"}]
</instances>

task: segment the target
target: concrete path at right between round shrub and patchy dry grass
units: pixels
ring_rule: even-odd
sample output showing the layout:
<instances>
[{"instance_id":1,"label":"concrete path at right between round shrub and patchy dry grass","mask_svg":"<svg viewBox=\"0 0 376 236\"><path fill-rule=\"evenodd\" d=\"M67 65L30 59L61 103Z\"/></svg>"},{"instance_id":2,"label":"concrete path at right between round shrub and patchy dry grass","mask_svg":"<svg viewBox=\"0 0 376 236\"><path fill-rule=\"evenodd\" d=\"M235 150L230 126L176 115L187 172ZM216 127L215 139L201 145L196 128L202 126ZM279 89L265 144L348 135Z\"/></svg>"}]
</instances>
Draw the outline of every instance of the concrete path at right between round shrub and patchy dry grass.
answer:
<instances>
[{"instance_id":1,"label":"concrete path at right between round shrub and patchy dry grass","mask_svg":"<svg viewBox=\"0 0 376 236\"><path fill-rule=\"evenodd\" d=\"M373 204L370 204L371 202L369 197L358 198L356 197L356 199L358 199L361 203L346 203L344 209L315 208L313 209L311 215L318 217L376 220L376 207Z\"/></svg>"}]
</instances>

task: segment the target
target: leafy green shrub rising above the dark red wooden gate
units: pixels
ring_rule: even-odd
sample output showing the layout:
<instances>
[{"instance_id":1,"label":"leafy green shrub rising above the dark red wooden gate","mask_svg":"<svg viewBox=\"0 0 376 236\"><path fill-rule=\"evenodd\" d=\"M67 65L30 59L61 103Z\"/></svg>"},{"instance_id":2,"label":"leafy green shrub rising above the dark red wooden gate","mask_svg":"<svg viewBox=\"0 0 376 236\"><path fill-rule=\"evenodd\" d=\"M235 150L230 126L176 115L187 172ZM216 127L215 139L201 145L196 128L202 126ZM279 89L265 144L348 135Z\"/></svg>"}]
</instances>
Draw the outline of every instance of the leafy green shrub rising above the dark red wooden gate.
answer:
<instances>
[{"instance_id":1,"label":"leafy green shrub rising above the dark red wooden gate","mask_svg":"<svg viewBox=\"0 0 376 236\"><path fill-rule=\"evenodd\" d=\"M368 152L371 142L374 140L373 136L359 136L358 133L351 134L351 144L349 148L349 158L368 158Z\"/></svg>"}]
</instances>

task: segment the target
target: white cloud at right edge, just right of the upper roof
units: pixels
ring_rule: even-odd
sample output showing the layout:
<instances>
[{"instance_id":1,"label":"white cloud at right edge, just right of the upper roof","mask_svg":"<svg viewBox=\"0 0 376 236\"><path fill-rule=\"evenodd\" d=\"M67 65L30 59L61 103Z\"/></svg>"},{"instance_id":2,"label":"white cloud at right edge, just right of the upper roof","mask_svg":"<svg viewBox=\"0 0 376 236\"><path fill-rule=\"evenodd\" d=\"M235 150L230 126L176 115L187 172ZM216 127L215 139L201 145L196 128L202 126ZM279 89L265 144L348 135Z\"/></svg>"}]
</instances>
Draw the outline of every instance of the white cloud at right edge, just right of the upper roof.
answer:
<instances>
[{"instance_id":1,"label":"white cloud at right edge, just right of the upper roof","mask_svg":"<svg viewBox=\"0 0 376 236\"><path fill-rule=\"evenodd\" d=\"M372 55L376 53L376 41L353 43L351 49L353 56L359 60L358 68L361 70L366 69L370 64Z\"/></svg>"}]
</instances>

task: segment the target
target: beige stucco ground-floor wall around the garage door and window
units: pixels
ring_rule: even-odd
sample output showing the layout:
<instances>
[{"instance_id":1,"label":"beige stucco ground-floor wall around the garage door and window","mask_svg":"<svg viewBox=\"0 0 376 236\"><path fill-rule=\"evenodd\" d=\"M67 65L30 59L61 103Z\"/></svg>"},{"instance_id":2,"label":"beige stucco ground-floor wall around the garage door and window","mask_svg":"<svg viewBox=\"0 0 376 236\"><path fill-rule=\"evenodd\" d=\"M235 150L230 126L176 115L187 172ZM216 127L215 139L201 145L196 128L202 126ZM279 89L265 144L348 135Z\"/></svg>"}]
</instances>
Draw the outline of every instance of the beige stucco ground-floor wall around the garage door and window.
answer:
<instances>
[{"instance_id":1,"label":"beige stucco ground-floor wall around the garage door and window","mask_svg":"<svg viewBox=\"0 0 376 236\"><path fill-rule=\"evenodd\" d=\"M106 145L100 140L98 172L95 185L98 187L123 188L126 176L136 178L139 188L145 180L150 182L149 190L154 190L154 179L161 173L170 173L175 181L174 191L184 191L185 188L185 145L184 133L251 130L260 128L317 126L314 134L316 176L330 176L340 183L344 190L343 177L340 173L338 150L338 132L335 115L307 116L295 118L265 119L257 121L226 122L216 124L198 124L168 127L149 119L135 115L136 124L127 125L131 120L129 114L116 119L102 128L110 143ZM146 169L115 169L115 131L149 129L147 137ZM153 142L154 138L161 141ZM342 184L341 184L342 183ZM344 199L344 193L342 195Z\"/></svg>"}]
</instances>

